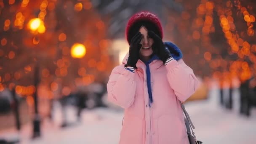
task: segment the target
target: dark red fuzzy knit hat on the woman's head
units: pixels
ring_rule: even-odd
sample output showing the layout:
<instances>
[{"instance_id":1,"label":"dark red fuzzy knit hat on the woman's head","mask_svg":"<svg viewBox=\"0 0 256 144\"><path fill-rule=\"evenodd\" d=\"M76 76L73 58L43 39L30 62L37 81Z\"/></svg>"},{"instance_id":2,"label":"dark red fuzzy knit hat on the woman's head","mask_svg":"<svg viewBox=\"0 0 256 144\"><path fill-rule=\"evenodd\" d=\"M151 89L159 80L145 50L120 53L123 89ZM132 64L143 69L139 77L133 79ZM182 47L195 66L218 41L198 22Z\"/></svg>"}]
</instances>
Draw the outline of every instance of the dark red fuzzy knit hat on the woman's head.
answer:
<instances>
[{"instance_id":1,"label":"dark red fuzzy knit hat on the woman's head","mask_svg":"<svg viewBox=\"0 0 256 144\"><path fill-rule=\"evenodd\" d=\"M133 26L133 24L136 24L136 22L139 22L139 21L148 21L154 24L157 27L158 31L160 32L159 36L163 39L163 29L158 17L155 14L150 13L149 11L141 11L131 16L131 18L127 23L126 30L125 30L125 37L127 41L128 41L129 31L131 27Z\"/></svg>"}]
</instances>

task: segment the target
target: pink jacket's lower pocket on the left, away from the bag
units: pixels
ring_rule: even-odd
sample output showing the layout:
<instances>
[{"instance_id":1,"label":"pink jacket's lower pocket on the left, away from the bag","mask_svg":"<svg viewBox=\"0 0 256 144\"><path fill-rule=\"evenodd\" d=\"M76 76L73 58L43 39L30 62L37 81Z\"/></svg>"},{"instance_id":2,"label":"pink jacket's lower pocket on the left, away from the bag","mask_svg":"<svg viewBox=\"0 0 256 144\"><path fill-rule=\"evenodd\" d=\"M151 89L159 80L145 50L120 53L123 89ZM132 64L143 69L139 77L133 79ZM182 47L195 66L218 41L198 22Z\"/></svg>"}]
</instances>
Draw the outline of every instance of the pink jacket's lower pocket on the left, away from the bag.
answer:
<instances>
[{"instance_id":1,"label":"pink jacket's lower pocket on the left, away from the bag","mask_svg":"<svg viewBox=\"0 0 256 144\"><path fill-rule=\"evenodd\" d=\"M135 115L125 115L119 144L142 144L143 121Z\"/></svg>"}]
</instances>

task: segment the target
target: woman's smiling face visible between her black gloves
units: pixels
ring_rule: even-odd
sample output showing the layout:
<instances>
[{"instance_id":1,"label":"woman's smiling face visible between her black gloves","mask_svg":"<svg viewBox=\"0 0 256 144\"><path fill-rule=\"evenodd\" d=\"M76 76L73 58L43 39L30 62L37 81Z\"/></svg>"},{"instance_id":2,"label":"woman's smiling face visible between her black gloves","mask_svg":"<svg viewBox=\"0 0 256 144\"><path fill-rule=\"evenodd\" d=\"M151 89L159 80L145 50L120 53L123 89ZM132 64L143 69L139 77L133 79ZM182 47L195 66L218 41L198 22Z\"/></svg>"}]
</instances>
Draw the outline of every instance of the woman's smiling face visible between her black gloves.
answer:
<instances>
[{"instance_id":1,"label":"woman's smiling face visible between her black gloves","mask_svg":"<svg viewBox=\"0 0 256 144\"><path fill-rule=\"evenodd\" d=\"M154 40L152 38L149 38L149 36L147 35L147 29L145 27L141 27L139 29L139 32L141 32L142 34L142 39L141 39L141 44L142 47L140 49L140 54L141 56L151 56L153 53L152 50L152 44L154 43Z\"/></svg>"}]
</instances>

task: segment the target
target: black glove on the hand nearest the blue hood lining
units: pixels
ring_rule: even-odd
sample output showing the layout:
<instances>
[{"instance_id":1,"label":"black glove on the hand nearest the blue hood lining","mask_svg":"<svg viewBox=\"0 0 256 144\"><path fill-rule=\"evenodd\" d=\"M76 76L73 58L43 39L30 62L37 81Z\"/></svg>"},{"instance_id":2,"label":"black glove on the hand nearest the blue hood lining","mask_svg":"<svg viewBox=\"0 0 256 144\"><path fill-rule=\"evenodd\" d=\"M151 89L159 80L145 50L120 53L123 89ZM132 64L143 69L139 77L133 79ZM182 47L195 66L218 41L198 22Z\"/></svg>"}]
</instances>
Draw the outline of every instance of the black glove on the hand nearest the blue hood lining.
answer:
<instances>
[{"instance_id":1,"label":"black glove on the hand nearest the blue hood lining","mask_svg":"<svg viewBox=\"0 0 256 144\"><path fill-rule=\"evenodd\" d=\"M163 61L163 64L165 64L165 61L172 57L170 51L165 47L162 39L154 32L149 31L148 35L154 40L154 43L152 44L153 52L159 57L161 61Z\"/></svg>"}]
</instances>

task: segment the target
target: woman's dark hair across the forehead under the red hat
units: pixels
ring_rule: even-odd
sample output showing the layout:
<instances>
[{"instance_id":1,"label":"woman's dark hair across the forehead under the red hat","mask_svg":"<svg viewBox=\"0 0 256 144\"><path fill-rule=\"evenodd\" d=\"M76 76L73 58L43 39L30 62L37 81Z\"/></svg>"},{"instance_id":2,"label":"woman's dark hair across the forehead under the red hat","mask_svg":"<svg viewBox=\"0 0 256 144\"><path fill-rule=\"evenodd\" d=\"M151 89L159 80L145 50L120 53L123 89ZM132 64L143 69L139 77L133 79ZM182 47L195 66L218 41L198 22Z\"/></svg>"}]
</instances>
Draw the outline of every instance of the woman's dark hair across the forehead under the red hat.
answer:
<instances>
[{"instance_id":1,"label":"woman's dark hair across the forehead under the red hat","mask_svg":"<svg viewBox=\"0 0 256 144\"><path fill-rule=\"evenodd\" d=\"M128 43L131 43L131 39L133 38L134 35L136 35L137 32L139 32L139 29L141 28L141 26L144 26L147 28L147 30L153 31L155 32L156 35L158 35L159 37L160 35L160 31L159 29L155 26L155 24L153 24L150 21L138 21L135 24L133 24L128 32Z\"/></svg>"}]
</instances>

